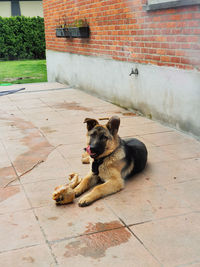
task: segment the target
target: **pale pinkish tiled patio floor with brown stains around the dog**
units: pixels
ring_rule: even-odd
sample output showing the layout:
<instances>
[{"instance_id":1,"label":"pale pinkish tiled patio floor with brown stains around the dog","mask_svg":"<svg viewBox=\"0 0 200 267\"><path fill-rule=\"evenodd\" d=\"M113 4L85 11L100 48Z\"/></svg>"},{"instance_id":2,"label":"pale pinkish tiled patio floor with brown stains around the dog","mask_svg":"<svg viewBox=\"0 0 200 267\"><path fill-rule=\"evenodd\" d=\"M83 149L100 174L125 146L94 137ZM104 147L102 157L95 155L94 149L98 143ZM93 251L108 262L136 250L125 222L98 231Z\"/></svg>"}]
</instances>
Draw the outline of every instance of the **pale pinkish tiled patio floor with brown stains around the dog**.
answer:
<instances>
[{"instance_id":1,"label":"pale pinkish tiled patio floor with brown stains around the dog","mask_svg":"<svg viewBox=\"0 0 200 267\"><path fill-rule=\"evenodd\" d=\"M200 143L59 83L0 96L0 266L200 266ZM52 192L81 163L84 118L118 115L149 152L125 189L81 208Z\"/></svg>"}]
</instances>

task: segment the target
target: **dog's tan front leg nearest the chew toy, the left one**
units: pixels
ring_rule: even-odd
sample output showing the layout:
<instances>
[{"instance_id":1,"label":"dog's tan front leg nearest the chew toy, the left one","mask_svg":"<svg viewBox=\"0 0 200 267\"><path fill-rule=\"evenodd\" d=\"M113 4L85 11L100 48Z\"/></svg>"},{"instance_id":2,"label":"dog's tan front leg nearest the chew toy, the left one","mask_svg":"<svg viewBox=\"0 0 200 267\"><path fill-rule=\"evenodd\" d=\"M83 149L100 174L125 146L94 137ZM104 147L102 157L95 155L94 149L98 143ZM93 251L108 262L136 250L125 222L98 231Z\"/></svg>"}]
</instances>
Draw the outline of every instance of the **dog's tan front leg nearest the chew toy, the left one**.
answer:
<instances>
[{"instance_id":1,"label":"dog's tan front leg nearest the chew toy, the left one","mask_svg":"<svg viewBox=\"0 0 200 267\"><path fill-rule=\"evenodd\" d=\"M92 172L89 173L86 177L84 177L80 184L74 189L75 196L78 197L86 190L90 189L92 186L97 184L99 177L94 175Z\"/></svg>"}]
</instances>

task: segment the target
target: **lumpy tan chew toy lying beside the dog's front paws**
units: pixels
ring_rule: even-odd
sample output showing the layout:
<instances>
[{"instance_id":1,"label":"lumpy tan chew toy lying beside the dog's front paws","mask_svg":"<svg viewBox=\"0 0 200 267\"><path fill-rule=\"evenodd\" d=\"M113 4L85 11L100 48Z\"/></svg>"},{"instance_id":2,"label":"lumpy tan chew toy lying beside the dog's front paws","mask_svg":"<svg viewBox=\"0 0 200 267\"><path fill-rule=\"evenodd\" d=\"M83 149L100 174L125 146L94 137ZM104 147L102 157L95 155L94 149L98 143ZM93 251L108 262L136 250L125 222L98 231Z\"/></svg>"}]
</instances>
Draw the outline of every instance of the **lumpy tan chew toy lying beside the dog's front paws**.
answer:
<instances>
[{"instance_id":1,"label":"lumpy tan chew toy lying beside the dog's front paws","mask_svg":"<svg viewBox=\"0 0 200 267\"><path fill-rule=\"evenodd\" d=\"M80 184L81 179L77 173L72 173L69 175L69 184L59 185L55 188L53 192L53 200L56 201L57 205L63 205L72 203L75 198L74 188Z\"/></svg>"}]
</instances>

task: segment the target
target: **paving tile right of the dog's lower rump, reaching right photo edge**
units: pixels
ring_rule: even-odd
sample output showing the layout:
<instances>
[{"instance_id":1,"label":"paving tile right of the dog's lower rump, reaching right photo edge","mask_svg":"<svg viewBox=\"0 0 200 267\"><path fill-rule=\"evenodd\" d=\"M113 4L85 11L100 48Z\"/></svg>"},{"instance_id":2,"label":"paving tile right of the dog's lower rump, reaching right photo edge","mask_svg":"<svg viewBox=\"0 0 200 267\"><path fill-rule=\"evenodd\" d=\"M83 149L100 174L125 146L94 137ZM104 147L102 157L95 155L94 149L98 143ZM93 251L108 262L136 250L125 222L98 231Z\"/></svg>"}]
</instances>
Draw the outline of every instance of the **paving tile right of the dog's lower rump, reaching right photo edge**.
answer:
<instances>
[{"instance_id":1,"label":"paving tile right of the dog's lower rump, reaching right photo edge","mask_svg":"<svg viewBox=\"0 0 200 267\"><path fill-rule=\"evenodd\" d=\"M158 185L200 179L200 158L150 162L143 174Z\"/></svg>"}]
</instances>

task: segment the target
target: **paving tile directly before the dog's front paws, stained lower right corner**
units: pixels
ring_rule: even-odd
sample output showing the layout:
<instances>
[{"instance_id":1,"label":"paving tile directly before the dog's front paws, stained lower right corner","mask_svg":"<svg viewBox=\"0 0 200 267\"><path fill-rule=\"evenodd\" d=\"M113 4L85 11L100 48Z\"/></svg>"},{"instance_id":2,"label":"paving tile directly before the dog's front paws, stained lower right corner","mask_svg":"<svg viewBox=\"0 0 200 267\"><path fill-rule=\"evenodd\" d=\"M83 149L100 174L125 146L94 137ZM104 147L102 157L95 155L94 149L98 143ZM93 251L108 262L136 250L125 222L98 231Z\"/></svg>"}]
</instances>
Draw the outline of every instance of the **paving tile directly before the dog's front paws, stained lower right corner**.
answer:
<instances>
[{"instance_id":1,"label":"paving tile directly before the dog's front paws, stained lower right corner","mask_svg":"<svg viewBox=\"0 0 200 267\"><path fill-rule=\"evenodd\" d=\"M51 201L51 205L37 208L35 213L48 241L123 226L102 200L86 208L79 207L77 199L74 203L63 206L56 206Z\"/></svg>"}]
</instances>

